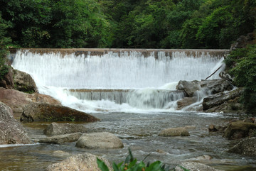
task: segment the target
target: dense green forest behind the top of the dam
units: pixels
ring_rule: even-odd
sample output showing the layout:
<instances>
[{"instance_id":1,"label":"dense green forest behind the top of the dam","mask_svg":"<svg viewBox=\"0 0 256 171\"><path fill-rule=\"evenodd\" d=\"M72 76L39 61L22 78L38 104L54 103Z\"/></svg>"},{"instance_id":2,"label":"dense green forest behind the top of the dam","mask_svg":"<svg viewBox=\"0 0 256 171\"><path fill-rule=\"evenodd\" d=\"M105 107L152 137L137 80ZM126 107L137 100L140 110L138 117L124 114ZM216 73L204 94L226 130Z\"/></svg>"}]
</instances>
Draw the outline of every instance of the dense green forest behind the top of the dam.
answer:
<instances>
[{"instance_id":1,"label":"dense green forest behind the top of the dam","mask_svg":"<svg viewBox=\"0 0 256 171\"><path fill-rule=\"evenodd\" d=\"M222 49L255 29L256 0L1 0L0 11L14 47Z\"/></svg>"}]
</instances>

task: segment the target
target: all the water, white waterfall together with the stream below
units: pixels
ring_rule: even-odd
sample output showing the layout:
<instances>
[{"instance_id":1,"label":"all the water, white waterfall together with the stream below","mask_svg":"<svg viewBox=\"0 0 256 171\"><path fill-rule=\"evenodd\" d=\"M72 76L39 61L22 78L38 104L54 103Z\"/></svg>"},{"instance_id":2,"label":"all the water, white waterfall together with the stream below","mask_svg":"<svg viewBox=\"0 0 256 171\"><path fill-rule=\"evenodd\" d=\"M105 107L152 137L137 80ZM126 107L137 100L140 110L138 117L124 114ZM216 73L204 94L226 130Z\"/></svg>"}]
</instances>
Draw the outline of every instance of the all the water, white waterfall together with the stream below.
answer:
<instances>
[{"instance_id":1,"label":"all the water, white waterfall together with the stream below","mask_svg":"<svg viewBox=\"0 0 256 171\"><path fill-rule=\"evenodd\" d=\"M210 124L224 125L238 116L176 111L176 101L183 97L175 91L178 81L208 77L223 61L218 50L149 50L147 55L140 50L104 52L92 55L88 50L70 53L70 50L26 49L18 50L11 60L14 68L28 72L35 79L41 94L100 118L95 123L78 123L85 124L87 133L114 133L122 139L124 148L87 150L76 148L75 143L2 145L1 170L44 170L78 153L121 162L128 148L138 160L150 154L146 162L161 160L170 167L188 160L222 170L256 170L255 158L226 152L235 141L208 132ZM215 78L218 73L213 75L212 79ZM48 124L23 123L35 140L45 137L43 129ZM179 126L191 126L191 136L158 136L164 128ZM60 156L58 150L68 154ZM202 155L210 155L212 159L197 159Z\"/></svg>"}]
</instances>

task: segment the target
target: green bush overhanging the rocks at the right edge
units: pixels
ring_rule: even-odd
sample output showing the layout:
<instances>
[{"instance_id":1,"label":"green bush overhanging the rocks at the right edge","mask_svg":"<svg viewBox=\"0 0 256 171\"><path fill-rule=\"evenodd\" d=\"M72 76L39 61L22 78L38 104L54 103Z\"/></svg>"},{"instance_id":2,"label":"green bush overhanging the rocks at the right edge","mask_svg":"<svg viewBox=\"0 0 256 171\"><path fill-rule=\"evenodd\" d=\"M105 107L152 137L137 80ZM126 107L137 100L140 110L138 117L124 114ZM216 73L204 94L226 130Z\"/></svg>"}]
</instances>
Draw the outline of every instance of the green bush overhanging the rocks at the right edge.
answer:
<instances>
[{"instance_id":1,"label":"green bush overhanging the rocks at the right edge","mask_svg":"<svg viewBox=\"0 0 256 171\"><path fill-rule=\"evenodd\" d=\"M256 114L256 45L236 49L226 58L235 85L245 87L242 103L249 114Z\"/></svg>"}]
</instances>

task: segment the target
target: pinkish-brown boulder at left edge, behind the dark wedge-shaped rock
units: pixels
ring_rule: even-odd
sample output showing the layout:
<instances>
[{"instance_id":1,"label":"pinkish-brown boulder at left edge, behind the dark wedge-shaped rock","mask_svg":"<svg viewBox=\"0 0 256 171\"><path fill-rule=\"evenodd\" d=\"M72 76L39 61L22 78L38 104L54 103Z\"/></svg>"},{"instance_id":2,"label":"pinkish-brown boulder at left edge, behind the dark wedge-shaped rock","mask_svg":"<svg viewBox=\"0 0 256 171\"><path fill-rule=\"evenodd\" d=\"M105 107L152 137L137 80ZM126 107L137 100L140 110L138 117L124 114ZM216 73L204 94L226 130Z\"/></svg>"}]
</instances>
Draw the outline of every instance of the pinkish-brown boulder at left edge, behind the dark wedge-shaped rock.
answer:
<instances>
[{"instance_id":1,"label":"pinkish-brown boulder at left edge, behind the dark wedge-shaped rock","mask_svg":"<svg viewBox=\"0 0 256 171\"><path fill-rule=\"evenodd\" d=\"M19 119L23 112L23 107L31 102L41 102L46 104L60 104L60 101L44 94L27 94L15 89L4 89L0 87L0 101L11 107L14 111L14 118Z\"/></svg>"}]
</instances>

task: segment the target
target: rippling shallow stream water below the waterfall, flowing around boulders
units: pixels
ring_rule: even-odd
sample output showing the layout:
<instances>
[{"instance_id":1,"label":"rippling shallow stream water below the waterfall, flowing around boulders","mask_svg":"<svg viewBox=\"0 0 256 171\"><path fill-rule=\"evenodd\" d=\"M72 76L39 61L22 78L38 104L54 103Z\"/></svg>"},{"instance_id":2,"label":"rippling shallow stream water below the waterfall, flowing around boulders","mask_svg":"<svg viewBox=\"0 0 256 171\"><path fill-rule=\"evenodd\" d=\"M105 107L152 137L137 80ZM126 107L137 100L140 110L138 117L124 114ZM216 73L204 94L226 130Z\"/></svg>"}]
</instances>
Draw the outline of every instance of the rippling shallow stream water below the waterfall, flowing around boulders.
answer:
<instances>
[{"instance_id":1,"label":"rippling shallow stream water below the waterfall, flowing around boulders","mask_svg":"<svg viewBox=\"0 0 256 171\"><path fill-rule=\"evenodd\" d=\"M63 145L42 144L9 146L0 148L1 170L44 170L48 165L64 160L69 155L92 153L111 162L124 161L128 148L138 160L154 162L160 160L170 167L187 161L198 161L221 170L256 170L256 158L227 153L236 142L223 138L221 134L209 133L208 125L221 125L234 116L196 112L172 113L98 113L100 122L85 124L87 133L110 132L121 138L124 148L116 150L87 150L76 148L75 143ZM43 137L43 128L49 123L23 124L33 139ZM164 128L192 126L188 137L159 137ZM54 155L56 150L69 155ZM211 160L199 160L198 156L210 155Z\"/></svg>"}]
</instances>

